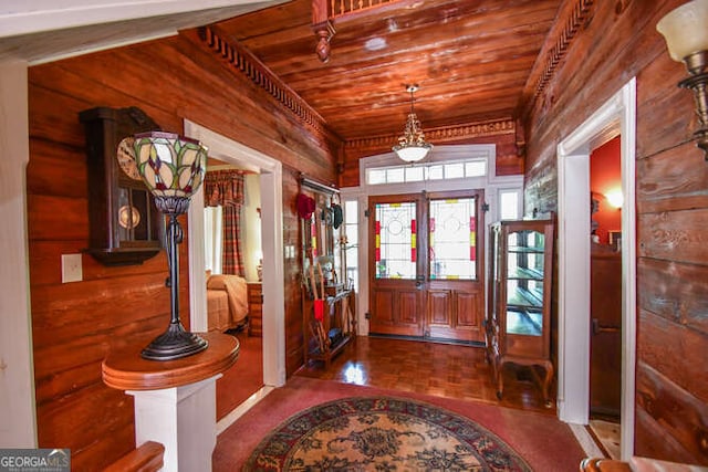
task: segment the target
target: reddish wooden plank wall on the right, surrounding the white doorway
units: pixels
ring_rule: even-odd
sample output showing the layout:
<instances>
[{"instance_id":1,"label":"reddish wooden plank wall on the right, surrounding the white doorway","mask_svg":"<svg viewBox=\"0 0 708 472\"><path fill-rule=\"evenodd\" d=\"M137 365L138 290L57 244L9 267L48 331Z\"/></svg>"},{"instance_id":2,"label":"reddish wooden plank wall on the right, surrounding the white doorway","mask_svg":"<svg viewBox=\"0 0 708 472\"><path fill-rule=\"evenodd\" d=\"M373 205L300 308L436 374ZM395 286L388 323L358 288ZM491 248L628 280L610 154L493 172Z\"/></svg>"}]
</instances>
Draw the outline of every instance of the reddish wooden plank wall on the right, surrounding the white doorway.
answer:
<instances>
[{"instance_id":1,"label":"reddish wooden plank wall on the right, surrounding the white doorway","mask_svg":"<svg viewBox=\"0 0 708 472\"><path fill-rule=\"evenodd\" d=\"M708 162L657 21L684 0L598 1L527 123L525 211L556 209L555 148L637 77L635 452L708 465Z\"/></svg>"}]
</instances>

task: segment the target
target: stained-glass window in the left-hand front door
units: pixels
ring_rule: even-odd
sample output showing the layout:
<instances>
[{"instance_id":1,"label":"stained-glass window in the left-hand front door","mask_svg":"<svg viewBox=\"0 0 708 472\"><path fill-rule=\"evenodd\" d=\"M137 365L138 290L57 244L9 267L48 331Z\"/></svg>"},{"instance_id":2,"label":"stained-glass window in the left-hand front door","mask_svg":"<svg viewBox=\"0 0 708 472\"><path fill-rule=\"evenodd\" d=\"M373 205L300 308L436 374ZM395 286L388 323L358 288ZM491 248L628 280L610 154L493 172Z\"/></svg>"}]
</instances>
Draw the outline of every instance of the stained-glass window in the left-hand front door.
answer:
<instances>
[{"instance_id":1,"label":"stained-glass window in the left-hand front door","mask_svg":"<svg viewBox=\"0 0 708 472\"><path fill-rule=\"evenodd\" d=\"M376 203L376 279L416 277L416 203Z\"/></svg>"}]
</instances>

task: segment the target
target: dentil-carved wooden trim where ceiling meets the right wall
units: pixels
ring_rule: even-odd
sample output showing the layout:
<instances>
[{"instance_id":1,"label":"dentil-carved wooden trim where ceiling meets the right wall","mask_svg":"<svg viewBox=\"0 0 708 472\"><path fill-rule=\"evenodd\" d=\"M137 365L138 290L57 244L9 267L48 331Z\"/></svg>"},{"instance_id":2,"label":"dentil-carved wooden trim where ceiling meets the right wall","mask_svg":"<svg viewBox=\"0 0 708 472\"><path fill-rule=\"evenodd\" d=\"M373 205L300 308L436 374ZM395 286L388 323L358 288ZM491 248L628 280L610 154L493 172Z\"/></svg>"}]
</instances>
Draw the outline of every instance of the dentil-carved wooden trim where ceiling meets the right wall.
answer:
<instances>
[{"instance_id":1,"label":"dentil-carved wooden trim where ceiling meets the right wall","mask_svg":"<svg viewBox=\"0 0 708 472\"><path fill-rule=\"evenodd\" d=\"M594 0L576 0L576 3L572 7L572 9L565 14L564 23L561 23L562 20L558 22L558 24L563 24L563 27L555 32L555 41L552 41L550 49L543 52L545 56L544 62L537 63L534 73L531 74L531 77L538 75L535 78L535 84L531 91L532 95L530 97L527 111L532 108L535 101L543 93L551 78L553 78L553 74L555 73L558 65L565 56L571 42L575 38L577 30L583 25L585 20L591 15L592 10L595 6ZM553 32L551 33L553 34ZM540 55L542 56L542 55ZM539 73L538 69L541 67ZM529 84L527 84L527 87Z\"/></svg>"}]
</instances>

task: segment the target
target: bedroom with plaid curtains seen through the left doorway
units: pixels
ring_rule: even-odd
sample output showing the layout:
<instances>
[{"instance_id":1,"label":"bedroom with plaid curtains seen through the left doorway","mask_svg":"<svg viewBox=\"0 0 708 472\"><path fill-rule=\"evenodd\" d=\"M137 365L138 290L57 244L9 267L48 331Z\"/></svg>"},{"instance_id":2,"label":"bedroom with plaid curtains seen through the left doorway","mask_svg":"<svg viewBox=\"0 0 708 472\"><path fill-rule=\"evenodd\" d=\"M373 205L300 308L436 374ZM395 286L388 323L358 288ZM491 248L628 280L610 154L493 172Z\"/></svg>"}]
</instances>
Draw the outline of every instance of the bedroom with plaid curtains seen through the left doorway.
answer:
<instances>
[{"instance_id":1,"label":"bedroom with plaid curtains seen through the left doorway","mask_svg":"<svg viewBox=\"0 0 708 472\"><path fill-rule=\"evenodd\" d=\"M240 345L240 368L217 381L221 419L263 387L260 175L209 158L204 193L208 331Z\"/></svg>"}]
</instances>

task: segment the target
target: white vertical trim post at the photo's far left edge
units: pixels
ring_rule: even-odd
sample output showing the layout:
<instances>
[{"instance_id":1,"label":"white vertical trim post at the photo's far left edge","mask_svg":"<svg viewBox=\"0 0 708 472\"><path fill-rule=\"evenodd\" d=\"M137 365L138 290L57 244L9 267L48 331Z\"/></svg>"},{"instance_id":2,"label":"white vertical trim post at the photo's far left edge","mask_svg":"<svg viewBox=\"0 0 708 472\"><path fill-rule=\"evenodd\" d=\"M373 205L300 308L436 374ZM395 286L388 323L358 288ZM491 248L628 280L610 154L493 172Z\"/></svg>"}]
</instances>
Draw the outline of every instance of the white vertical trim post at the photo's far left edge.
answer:
<instances>
[{"instance_id":1,"label":"white vertical trim post at the photo's far left edge","mask_svg":"<svg viewBox=\"0 0 708 472\"><path fill-rule=\"evenodd\" d=\"M0 62L0 444L37 448L27 231L28 63Z\"/></svg>"}]
</instances>

